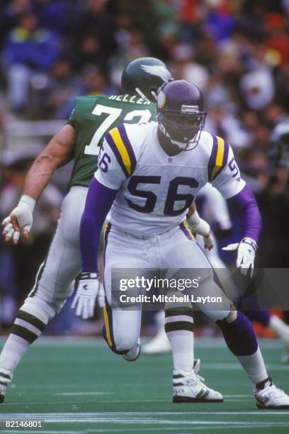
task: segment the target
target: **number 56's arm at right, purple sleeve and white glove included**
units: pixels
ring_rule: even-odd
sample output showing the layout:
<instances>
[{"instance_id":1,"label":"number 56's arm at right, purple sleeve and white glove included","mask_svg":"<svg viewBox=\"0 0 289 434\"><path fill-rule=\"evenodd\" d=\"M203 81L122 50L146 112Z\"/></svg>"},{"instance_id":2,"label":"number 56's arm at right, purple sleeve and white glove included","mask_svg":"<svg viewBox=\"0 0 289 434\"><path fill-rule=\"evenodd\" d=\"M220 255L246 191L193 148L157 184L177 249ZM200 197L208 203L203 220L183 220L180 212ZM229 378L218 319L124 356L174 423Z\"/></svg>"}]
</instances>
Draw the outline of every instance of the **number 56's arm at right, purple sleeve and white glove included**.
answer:
<instances>
[{"instance_id":1,"label":"number 56's arm at right, purple sleeve and white glove included","mask_svg":"<svg viewBox=\"0 0 289 434\"><path fill-rule=\"evenodd\" d=\"M228 144L227 158L223 165L212 169L211 183L216 187L228 203L237 208L243 222L243 238L239 243L223 247L223 250L237 249L237 267L246 274L251 267L251 276L254 270L254 258L257 243L261 233L262 221L259 207L251 189L242 179L234 154ZM225 152L224 152L225 155Z\"/></svg>"}]
</instances>

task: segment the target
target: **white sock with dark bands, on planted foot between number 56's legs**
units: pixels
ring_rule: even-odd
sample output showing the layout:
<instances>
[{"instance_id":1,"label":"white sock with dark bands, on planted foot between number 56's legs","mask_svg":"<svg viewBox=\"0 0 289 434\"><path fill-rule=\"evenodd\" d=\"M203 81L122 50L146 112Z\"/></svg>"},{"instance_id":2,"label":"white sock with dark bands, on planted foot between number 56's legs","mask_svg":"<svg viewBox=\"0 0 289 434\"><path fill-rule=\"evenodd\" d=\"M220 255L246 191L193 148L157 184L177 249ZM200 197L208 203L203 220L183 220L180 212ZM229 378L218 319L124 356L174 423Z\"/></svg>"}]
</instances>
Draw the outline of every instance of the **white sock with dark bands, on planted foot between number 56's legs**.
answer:
<instances>
[{"instance_id":1,"label":"white sock with dark bands, on planted foot between number 56's legs","mask_svg":"<svg viewBox=\"0 0 289 434\"><path fill-rule=\"evenodd\" d=\"M173 315L165 318L166 335L171 344L174 370L193 370L193 317Z\"/></svg>"}]
</instances>

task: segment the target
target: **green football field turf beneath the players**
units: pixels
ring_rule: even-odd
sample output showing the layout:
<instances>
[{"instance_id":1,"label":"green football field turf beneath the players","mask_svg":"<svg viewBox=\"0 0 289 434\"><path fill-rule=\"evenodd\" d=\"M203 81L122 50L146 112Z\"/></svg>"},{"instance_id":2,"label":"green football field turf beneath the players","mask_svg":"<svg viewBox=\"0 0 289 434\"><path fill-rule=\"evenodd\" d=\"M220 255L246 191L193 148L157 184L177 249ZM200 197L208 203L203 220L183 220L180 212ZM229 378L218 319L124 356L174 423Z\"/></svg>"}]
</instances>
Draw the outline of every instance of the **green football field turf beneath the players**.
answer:
<instances>
[{"instance_id":1,"label":"green football field turf beneath the players","mask_svg":"<svg viewBox=\"0 0 289 434\"><path fill-rule=\"evenodd\" d=\"M261 348L269 374L289 391L280 344L263 340ZM142 355L132 363L101 339L42 338L0 405L0 433L289 433L289 411L256 409L249 380L222 340L196 339L196 357L224 403L172 404L171 355ZM45 426L6 428L12 420Z\"/></svg>"}]
</instances>

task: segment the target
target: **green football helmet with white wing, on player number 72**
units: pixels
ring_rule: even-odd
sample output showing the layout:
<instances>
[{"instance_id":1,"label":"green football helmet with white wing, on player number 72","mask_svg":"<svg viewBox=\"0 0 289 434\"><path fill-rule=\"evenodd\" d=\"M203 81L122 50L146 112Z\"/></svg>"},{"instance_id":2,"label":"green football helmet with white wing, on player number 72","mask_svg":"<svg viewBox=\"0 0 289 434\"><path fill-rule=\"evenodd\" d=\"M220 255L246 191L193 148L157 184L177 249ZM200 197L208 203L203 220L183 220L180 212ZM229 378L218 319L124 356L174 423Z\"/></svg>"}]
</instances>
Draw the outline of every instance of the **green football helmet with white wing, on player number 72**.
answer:
<instances>
[{"instance_id":1,"label":"green football helmet with white wing, on player number 72","mask_svg":"<svg viewBox=\"0 0 289 434\"><path fill-rule=\"evenodd\" d=\"M121 91L123 94L138 95L143 99L156 101L159 87L172 79L162 60L140 57L132 60L123 70Z\"/></svg>"}]
</instances>

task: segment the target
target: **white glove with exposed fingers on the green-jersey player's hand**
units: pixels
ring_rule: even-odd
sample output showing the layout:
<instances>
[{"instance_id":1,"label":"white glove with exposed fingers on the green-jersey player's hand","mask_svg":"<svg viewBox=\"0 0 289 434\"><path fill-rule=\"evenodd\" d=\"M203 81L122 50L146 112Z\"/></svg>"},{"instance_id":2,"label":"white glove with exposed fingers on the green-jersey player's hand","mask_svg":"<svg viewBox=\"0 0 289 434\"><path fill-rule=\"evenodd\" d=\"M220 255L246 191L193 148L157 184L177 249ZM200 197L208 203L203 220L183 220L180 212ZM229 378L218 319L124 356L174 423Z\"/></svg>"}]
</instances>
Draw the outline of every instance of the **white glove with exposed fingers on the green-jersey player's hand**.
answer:
<instances>
[{"instance_id":1,"label":"white glove with exposed fingers on the green-jersey player's hand","mask_svg":"<svg viewBox=\"0 0 289 434\"><path fill-rule=\"evenodd\" d=\"M21 232L24 238L28 238L33 223L35 204L36 201L33 197L23 194L16 208L11 211L8 217L4 218L2 226L4 226L3 235L6 243L12 239L13 244L18 244Z\"/></svg>"}]
</instances>

